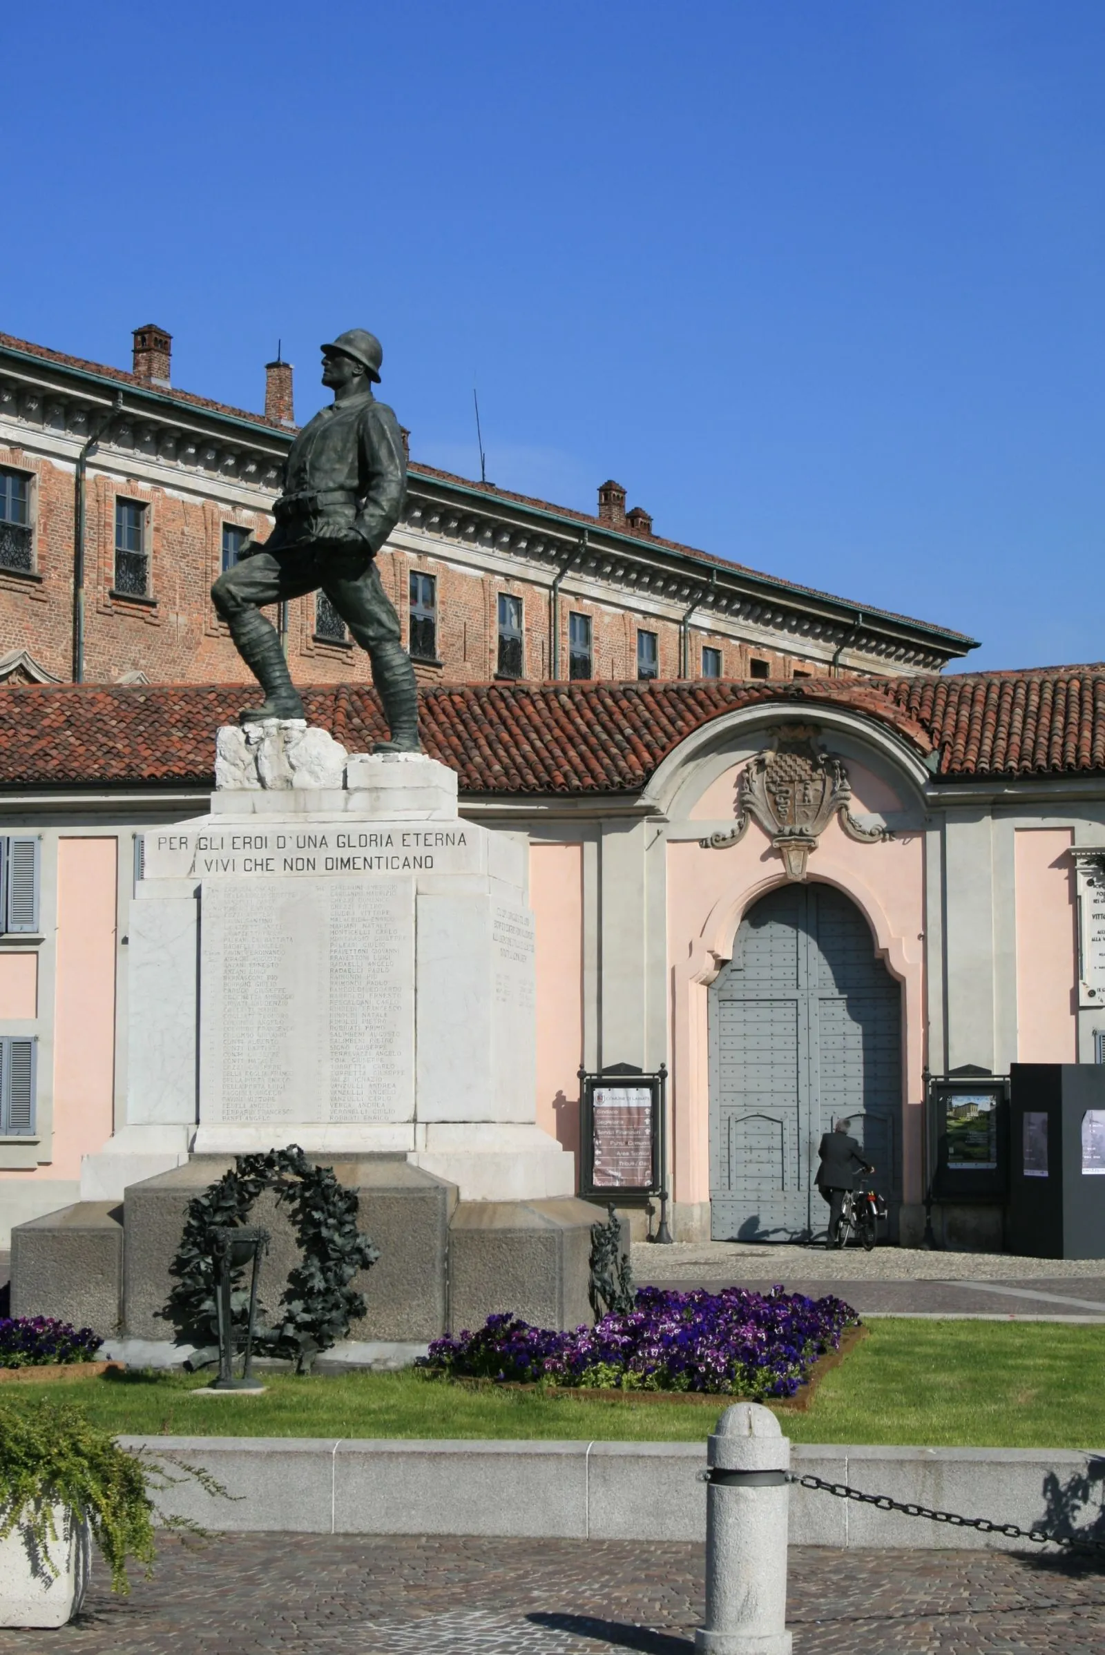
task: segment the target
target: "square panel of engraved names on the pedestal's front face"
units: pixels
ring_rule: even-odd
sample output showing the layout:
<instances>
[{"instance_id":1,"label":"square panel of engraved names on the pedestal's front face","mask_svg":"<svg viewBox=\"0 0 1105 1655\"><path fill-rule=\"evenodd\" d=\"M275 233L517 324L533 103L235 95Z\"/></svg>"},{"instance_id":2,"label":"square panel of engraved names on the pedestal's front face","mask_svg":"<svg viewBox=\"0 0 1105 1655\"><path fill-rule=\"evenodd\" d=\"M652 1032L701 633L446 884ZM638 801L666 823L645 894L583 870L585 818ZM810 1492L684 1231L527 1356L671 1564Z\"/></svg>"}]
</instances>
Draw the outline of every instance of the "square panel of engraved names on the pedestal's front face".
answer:
<instances>
[{"instance_id":1,"label":"square panel of engraved names on the pedestal's front face","mask_svg":"<svg viewBox=\"0 0 1105 1655\"><path fill-rule=\"evenodd\" d=\"M414 882L205 879L200 1120L414 1117Z\"/></svg>"}]
</instances>

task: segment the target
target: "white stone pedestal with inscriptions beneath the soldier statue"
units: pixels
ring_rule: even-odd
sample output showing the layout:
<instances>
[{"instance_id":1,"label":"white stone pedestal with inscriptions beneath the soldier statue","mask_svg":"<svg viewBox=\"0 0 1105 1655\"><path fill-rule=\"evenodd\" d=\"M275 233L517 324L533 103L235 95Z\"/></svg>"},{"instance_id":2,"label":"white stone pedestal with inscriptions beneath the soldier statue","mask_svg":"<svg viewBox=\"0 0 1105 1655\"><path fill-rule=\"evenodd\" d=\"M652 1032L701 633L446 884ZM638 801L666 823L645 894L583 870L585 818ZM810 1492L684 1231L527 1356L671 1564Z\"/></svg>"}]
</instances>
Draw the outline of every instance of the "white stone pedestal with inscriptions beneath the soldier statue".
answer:
<instances>
[{"instance_id":1,"label":"white stone pedestal with inscriptions beneath the soldier statue","mask_svg":"<svg viewBox=\"0 0 1105 1655\"><path fill-rule=\"evenodd\" d=\"M129 928L129 1158L402 1154L462 1200L571 1195L534 1124L528 842L465 823L422 755L222 730L208 816L144 836ZM308 784L304 784L308 783ZM124 1152L126 1150L126 1152Z\"/></svg>"}]
</instances>

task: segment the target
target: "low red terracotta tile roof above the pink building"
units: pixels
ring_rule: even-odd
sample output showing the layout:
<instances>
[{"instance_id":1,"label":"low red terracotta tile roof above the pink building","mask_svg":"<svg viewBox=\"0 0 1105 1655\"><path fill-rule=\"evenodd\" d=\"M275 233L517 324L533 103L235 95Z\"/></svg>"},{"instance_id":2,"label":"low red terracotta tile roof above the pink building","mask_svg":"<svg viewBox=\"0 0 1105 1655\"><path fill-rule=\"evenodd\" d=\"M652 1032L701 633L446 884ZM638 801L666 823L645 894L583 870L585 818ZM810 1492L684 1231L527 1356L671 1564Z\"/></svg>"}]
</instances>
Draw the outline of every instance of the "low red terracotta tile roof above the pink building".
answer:
<instances>
[{"instance_id":1,"label":"low red terracotta tile roof above the pink building","mask_svg":"<svg viewBox=\"0 0 1105 1655\"><path fill-rule=\"evenodd\" d=\"M0 788L212 784L215 730L243 685L7 685ZM425 750L471 794L637 793L693 730L763 703L840 707L938 753L938 776L1105 773L1105 667L925 679L490 684L420 692ZM304 690L351 751L385 733L376 692Z\"/></svg>"}]
</instances>

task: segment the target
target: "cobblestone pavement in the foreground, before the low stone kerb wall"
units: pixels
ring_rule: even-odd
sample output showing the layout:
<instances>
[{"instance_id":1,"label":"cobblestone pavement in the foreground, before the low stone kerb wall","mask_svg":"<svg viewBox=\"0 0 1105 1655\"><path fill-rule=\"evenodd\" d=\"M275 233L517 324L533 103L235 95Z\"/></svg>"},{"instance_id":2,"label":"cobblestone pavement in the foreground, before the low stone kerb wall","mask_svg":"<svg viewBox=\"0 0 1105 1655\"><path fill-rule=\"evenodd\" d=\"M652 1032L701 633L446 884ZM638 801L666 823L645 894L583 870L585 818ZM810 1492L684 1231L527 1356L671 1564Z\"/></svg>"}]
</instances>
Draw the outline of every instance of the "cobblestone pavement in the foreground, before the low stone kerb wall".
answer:
<instances>
[{"instance_id":1,"label":"cobblestone pavement in the foreground, before the low stone kerb wall","mask_svg":"<svg viewBox=\"0 0 1105 1655\"><path fill-rule=\"evenodd\" d=\"M103 1571L60 1632L0 1655L690 1655L703 1551L323 1534L167 1539L129 1599ZM1011 1552L791 1552L796 1655L1100 1655L1105 1571Z\"/></svg>"}]
</instances>

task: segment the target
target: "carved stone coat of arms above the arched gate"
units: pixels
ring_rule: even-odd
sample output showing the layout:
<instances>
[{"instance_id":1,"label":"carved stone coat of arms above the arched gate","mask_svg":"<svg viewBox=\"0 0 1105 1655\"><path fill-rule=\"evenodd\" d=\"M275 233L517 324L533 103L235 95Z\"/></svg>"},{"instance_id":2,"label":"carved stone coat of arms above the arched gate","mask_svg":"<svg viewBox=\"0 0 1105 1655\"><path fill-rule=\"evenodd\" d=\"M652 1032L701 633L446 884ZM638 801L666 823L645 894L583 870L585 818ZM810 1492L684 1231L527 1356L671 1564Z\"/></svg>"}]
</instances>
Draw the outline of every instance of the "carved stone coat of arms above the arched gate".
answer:
<instances>
[{"instance_id":1,"label":"carved stone coat of arms above the arched gate","mask_svg":"<svg viewBox=\"0 0 1105 1655\"><path fill-rule=\"evenodd\" d=\"M738 844L753 818L782 857L787 879L806 879L811 851L834 816L850 839L875 844L892 839L888 828L863 828L852 816L852 784L842 758L817 745L816 725L782 725L773 745L736 778L736 826L698 842L720 851Z\"/></svg>"}]
</instances>

